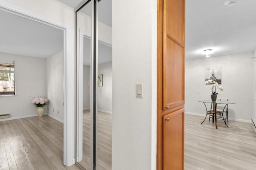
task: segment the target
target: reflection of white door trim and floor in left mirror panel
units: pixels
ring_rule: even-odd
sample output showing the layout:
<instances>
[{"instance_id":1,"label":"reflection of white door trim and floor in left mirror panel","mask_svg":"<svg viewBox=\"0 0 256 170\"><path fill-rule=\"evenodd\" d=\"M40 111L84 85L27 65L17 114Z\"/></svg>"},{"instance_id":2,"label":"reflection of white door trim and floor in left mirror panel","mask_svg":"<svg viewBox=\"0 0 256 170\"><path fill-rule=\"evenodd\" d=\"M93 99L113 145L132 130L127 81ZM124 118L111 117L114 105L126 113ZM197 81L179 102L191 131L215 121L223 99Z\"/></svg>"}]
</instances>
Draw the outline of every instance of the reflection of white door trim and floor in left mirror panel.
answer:
<instances>
[{"instance_id":1,"label":"reflection of white door trim and floor in left mirror panel","mask_svg":"<svg viewBox=\"0 0 256 170\"><path fill-rule=\"evenodd\" d=\"M81 8L76 17L78 65L77 162L86 170L91 170L91 17L86 15L87 13L91 13L91 2Z\"/></svg>"}]
</instances>

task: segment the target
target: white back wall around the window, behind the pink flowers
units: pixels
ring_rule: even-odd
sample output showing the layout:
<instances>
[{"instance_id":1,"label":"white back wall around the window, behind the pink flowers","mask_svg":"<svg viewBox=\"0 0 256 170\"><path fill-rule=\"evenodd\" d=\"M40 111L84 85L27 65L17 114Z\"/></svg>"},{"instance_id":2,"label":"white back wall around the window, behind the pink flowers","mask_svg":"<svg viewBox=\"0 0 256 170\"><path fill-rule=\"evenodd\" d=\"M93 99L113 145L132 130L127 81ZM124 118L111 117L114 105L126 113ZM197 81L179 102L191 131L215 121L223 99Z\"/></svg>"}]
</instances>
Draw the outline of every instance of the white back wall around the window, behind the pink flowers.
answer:
<instances>
[{"instance_id":1,"label":"white back wall around the window, behind the pink flowers","mask_svg":"<svg viewBox=\"0 0 256 170\"><path fill-rule=\"evenodd\" d=\"M32 97L47 97L46 59L0 53L0 62L15 61L15 96L0 96L0 114L10 113L10 118L37 115ZM32 96L32 97L29 97ZM47 106L44 107L47 112ZM6 121L8 119L1 119Z\"/></svg>"}]
</instances>

